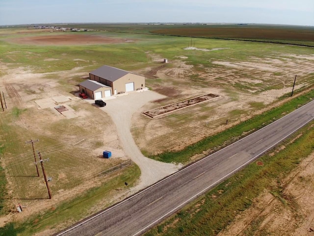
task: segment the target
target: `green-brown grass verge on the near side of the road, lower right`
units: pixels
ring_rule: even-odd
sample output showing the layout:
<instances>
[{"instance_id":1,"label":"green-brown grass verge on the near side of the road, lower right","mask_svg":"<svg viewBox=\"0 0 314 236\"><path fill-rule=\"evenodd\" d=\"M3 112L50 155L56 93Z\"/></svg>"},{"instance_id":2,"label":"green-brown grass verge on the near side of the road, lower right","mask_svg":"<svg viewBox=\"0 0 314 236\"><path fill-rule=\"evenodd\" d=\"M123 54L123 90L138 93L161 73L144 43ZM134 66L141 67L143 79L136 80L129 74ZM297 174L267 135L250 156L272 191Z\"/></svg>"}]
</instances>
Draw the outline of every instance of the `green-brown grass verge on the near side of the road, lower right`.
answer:
<instances>
[{"instance_id":1,"label":"green-brown grass verge on the near side of the road, lower right","mask_svg":"<svg viewBox=\"0 0 314 236\"><path fill-rule=\"evenodd\" d=\"M290 142L298 134L302 136ZM278 148L275 155L267 153L260 157L262 166L256 162L249 164L170 219L157 225L145 236L176 236L182 232L185 236L217 235L238 213L250 207L254 198L265 189L284 206L295 207L297 210L293 200L282 194L282 185L283 179L302 159L313 152L314 129L311 124L294 134L283 145L286 148ZM252 223L252 230L256 228L256 224L259 222Z\"/></svg>"}]
</instances>

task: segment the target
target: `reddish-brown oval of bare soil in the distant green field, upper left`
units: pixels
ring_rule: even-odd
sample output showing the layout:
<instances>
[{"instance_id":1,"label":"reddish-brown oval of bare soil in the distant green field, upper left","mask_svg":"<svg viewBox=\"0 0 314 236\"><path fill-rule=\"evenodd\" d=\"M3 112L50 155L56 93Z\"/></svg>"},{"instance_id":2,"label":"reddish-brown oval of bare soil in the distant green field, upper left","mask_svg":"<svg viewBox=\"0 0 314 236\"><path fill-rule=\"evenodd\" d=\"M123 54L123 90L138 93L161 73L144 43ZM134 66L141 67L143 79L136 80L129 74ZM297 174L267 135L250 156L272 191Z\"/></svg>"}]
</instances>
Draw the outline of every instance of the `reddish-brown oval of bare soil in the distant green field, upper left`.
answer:
<instances>
[{"instance_id":1,"label":"reddish-brown oval of bare soil in the distant green field, upper left","mask_svg":"<svg viewBox=\"0 0 314 236\"><path fill-rule=\"evenodd\" d=\"M11 38L11 42L32 45L79 45L79 44L111 44L126 42L124 39L114 39L99 35L86 35L80 33L55 34L46 36L31 36Z\"/></svg>"}]
</instances>

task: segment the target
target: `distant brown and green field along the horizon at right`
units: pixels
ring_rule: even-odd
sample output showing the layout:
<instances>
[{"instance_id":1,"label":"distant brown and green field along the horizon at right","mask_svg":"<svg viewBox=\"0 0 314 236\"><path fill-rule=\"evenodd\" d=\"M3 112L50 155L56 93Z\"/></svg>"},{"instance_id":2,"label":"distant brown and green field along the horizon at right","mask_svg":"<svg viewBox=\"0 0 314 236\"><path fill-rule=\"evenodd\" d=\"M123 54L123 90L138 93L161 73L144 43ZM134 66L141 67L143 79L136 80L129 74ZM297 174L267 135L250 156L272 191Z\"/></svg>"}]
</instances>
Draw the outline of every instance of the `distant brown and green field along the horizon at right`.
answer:
<instances>
[{"instance_id":1,"label":"distant brown and green field along the horizon at right","mask_svg":"<svg viewBox=\"0 0 314 236\"><path fill-rule=\"evenodd\" d=\"M97 29L130 33L157 33L184 37L240 39L314 46L314 27L246 25L246 24L88 24L70 25L85 29Z\"/></svg>"}]
</instances>

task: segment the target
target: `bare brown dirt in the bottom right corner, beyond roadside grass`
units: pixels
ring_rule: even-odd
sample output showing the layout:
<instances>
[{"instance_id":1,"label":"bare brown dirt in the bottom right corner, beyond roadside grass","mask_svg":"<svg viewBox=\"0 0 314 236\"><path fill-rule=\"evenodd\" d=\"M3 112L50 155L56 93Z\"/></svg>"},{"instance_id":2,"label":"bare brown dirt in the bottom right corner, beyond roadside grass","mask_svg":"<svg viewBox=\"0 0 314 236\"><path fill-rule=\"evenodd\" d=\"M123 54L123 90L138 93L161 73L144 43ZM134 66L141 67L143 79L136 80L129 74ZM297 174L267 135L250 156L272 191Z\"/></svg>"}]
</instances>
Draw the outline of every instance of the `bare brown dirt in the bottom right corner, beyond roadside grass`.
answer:
<instances>
[{"instance_id":1,"label":"bare brown dirt in the bottom right corner, beyond roadside grass","mask_svg":"<svg viewBox=\"0 0 314 236\"><path fill-rule=\"evenodd\" d=\"M284 200L268 190L239 214L218 236L313 236L314 154L303 160L283 182Z\"/></svg>"}]
</instances>

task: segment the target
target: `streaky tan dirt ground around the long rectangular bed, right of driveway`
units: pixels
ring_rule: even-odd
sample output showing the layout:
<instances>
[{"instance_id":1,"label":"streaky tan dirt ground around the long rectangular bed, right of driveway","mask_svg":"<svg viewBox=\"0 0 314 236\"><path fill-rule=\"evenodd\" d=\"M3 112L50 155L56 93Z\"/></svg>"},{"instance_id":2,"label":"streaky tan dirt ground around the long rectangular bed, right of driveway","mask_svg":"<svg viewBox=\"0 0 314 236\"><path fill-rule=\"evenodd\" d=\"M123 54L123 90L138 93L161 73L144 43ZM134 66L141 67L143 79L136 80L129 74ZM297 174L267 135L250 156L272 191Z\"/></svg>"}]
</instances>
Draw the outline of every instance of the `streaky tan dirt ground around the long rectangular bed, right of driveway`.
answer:
<instances>
[{"instance_id":1,"label":"streaky tan dirt ground around the long rectangular bed, right of driveway","mask_svg":"<svg viewBox=\"0 0 314 236\"><path fill-rule=\"evenodd\" d=\"M146 55L160 63L163 59L150 52L146 52ZM153 101L153 108L204 93L217 94L219 99L154 119L136 113L132 120L133 135L137 145L150 154L180 150L277 106L277 99L291 92L295 74L298 77L294 89L309 85L307 78L311 75L313 64L312 56L281 54L262 59L252 56L247 61L209 60L214 66L195 72L195 66L188 64L188 60L188 57L178 55L169 59L167 65L164 63L139 71L151 75L152 89L167 96ZM155 80L161 82L155 83ZM144 109L142 112L147 111ZM139 134L138 130L144 132L136 135Z\"/></svg>"}]
</instances>

